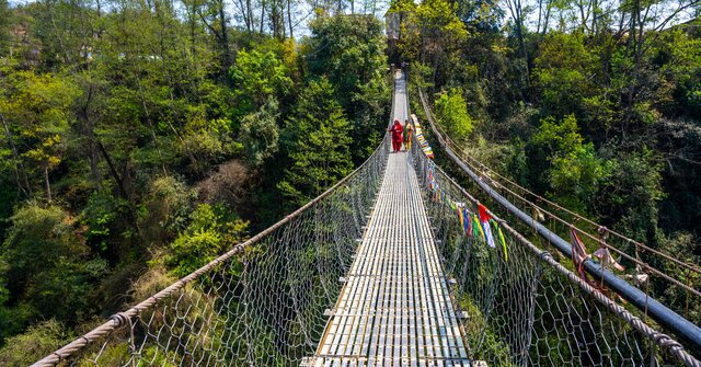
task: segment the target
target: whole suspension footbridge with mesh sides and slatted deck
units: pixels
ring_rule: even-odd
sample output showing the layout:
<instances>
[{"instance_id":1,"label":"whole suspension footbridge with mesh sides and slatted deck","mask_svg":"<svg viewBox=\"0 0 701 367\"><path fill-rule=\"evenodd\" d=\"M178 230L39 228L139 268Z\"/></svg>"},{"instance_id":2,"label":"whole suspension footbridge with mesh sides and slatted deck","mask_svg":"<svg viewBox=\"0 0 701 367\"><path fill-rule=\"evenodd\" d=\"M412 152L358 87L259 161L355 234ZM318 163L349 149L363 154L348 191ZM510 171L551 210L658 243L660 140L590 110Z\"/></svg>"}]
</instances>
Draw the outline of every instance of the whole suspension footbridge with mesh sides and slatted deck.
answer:
<instances>
[{"instance_id":1,"label":"whole suspension footbridge with mesh sides and slatted deck","mask_svg":"<svg viewBox=\"0 0 701 367\"><path fill-rule=\"evenodd\" d=\"M390 121L409 116L397 72ZM701 366L697 325L613 300L420 145L389 149L35 366Z\"/></svg>"}]
</instances>

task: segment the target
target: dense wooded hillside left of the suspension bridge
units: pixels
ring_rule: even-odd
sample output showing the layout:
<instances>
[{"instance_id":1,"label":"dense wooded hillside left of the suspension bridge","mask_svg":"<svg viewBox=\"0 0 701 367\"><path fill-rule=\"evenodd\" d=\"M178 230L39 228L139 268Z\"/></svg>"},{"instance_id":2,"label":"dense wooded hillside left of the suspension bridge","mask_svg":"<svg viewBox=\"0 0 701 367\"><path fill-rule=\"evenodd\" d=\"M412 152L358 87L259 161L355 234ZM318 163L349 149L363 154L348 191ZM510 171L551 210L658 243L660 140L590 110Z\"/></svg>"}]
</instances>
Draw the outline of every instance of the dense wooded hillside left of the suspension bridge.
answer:
<instances>
[{"instance_id":1,"label":"dense wooded hillside left of the suspension bridge","mask_svg":"<svg viewBox=\"0 0 701 367\"><path fill-rule=\"evenodd\" d=\"M222 3L0 1L0 365L206 264L379 142L378 19L320 9L296 42L268 23L279 3L260 30Z\"/></svg>"}]
</instances>

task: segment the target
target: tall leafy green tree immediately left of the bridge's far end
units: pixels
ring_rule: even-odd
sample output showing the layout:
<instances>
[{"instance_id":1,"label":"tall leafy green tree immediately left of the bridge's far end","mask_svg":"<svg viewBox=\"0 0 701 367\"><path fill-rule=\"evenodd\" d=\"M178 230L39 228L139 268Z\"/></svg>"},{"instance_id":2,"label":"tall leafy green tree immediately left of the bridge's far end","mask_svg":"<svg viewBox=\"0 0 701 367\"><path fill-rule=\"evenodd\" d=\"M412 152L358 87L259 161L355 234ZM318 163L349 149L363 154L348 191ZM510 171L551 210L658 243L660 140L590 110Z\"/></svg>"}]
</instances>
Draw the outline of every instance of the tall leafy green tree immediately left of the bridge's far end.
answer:
<instances>
[{"instance_id":1,"label":"tall leafy green tree immediately left of the bridge's far end","mask_svg":"<svg viewBox=\"0 0 701 367\"><path fill-rule=\"evenodd\" d=\"M391 96L386 81L382 23L375 16L319 16L302 57L312 76L325 77L353 125L350 152L356 162L379 142Z\"/></svg>"}]
</instances>

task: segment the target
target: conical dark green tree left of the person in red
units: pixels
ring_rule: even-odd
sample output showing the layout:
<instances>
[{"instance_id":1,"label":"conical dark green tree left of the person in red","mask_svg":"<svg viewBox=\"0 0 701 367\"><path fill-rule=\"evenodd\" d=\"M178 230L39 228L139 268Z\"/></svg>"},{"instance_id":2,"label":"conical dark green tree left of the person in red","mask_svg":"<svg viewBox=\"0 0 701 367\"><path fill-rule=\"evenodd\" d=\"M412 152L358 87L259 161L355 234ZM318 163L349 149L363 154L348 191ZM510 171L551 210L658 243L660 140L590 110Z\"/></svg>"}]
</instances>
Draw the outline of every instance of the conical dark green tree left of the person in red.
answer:
<instances>
[{"instance_id":1,"label":"conical dark green tree left of the person in red","mask_svg":"<svg viewBox=\"0 0 701 367\"><path fill-rule=\"evenodd\" d=\"M352 171L349 128L329 81L310 82L286 126L292 163L277 188L290 204L307 203Z\"/></svg>"}]
</instances>

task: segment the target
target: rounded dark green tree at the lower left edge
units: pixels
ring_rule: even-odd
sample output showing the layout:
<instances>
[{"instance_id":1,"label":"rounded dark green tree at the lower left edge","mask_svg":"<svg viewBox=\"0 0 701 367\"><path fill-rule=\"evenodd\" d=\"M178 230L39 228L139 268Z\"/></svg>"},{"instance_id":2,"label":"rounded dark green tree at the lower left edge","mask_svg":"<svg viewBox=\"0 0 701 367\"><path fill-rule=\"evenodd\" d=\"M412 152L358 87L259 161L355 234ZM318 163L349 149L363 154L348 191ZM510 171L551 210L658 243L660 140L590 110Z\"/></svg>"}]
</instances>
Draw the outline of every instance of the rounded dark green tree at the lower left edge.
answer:
<instances>
[{"instance_id":1,"label":"rounded dark green tree at the lower left edge","mask_svg":"<svg viewBox=\"0 0 701 367\"><path fill-rule=\"evenodd\" d=\"M26 308L21 313L71 321L90 314L96 297L91 283L105 274L107 264L89 255L74 219L56 206L28 204L11 221L0 259L11 295L19 309Z\"/></svg>"}]
</instances>

